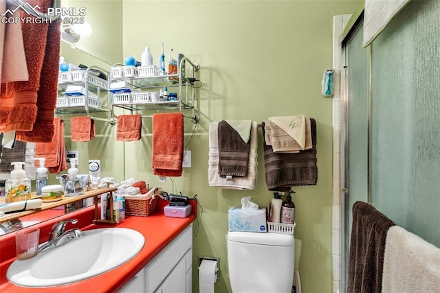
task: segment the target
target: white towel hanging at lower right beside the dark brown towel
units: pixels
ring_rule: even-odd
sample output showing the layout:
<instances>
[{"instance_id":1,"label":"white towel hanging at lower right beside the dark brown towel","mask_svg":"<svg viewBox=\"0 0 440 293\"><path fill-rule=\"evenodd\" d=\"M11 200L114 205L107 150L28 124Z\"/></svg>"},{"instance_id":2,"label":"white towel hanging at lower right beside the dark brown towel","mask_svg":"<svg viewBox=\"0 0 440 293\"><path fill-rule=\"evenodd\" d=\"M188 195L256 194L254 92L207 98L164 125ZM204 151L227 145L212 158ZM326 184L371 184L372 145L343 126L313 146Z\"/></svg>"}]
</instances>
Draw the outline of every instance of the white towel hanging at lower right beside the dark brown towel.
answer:
<instances>
[{"instance_id":1,"label":"white towel hanging at lower right beside the dark brown towel","mask_svg":"<svg viewBox=\"0 0 440 293\"><path fill-rule=\"evenodd\" d=\"M382 292L440 292L440 249L404 228L389 228Z\"/></svg>"}]
</instances>

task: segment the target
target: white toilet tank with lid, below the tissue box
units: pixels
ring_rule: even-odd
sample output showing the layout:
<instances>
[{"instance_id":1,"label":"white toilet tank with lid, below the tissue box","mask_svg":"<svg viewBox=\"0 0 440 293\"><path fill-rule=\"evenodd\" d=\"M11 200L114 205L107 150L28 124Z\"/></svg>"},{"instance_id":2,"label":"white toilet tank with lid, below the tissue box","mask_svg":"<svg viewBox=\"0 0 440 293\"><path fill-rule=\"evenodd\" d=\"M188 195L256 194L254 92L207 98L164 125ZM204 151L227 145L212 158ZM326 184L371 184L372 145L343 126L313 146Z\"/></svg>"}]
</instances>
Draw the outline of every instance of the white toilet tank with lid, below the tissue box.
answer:
<instances>
[{"instance_id":1,"label":"white toilet tank with lid, below the tissue box","mask_svg":"<svg viewBox=\"0 0 440 293\"><path fill-rule=\"evenodd\" d=\"M228 232L228 267L233 293L292 292L294 236Z\"/></svg>"}]
</instances>

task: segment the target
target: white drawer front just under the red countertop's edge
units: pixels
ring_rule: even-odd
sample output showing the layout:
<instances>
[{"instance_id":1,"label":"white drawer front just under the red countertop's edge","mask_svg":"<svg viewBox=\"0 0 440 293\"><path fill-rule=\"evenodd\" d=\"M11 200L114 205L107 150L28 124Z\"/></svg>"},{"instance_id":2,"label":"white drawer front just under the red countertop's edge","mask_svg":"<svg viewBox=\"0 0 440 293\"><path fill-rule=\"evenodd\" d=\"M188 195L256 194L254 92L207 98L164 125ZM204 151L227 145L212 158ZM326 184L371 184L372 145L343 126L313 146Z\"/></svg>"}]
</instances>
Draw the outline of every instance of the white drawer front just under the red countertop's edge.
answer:
<instances>
[{"instance_id":1,"label":"white drawer front just under the red countertop's edge","mask_svg":"<svg viewBox=\"0 0 440 293\"><path fill-rule=\"evenodd\" d=\"M146 267L147 292L153 292L192 247L192 224L158 254Z\"/></svg>"}]
</instances>

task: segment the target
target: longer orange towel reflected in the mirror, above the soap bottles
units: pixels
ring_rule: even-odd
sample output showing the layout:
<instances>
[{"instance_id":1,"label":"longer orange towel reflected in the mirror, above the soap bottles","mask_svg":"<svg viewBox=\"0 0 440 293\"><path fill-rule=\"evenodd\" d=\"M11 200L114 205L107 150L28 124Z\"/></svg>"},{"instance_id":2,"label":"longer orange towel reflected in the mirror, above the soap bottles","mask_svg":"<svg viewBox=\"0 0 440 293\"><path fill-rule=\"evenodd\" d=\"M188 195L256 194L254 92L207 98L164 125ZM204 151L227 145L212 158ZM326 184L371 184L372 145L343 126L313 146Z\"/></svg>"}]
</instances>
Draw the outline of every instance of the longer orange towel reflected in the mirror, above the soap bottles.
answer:
<instances>
[{"instance_id":1,"label":"longer orange towel reflected in the mirror, above the soap bottles","mask_svg":"<svg viewBox=\"0 0 440 293\"><path fill-rule=\"evenodd\" d=\"M64 148L64 121L61 118L54 119L55 135L52 142L37 142L35 145L35 157L46 158L45 166L50 173L58 173L67 169Z\"/></svg>"}]
</instances>

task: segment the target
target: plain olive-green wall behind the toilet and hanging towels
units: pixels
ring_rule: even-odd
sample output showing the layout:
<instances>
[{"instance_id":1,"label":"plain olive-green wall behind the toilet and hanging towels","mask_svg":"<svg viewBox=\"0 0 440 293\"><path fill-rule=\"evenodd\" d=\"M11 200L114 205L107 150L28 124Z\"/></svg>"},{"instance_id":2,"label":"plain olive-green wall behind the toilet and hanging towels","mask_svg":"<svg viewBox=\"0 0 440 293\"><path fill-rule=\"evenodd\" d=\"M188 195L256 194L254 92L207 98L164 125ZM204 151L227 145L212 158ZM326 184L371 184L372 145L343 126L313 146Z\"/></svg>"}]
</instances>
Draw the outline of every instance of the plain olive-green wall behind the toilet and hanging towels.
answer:
<instances>
[{"instance_id":1,"label":"plain olive-green wall behind the toilet and hanging towels","mask_svg":"<svg viewBox=\"0 0 440 293\"><path fill-rule=\"evenodd\" d=\"M118 180L135 177L169 192L197 193L199 224L193 250L194 292L198 292L199 255L220 258L220 279L215 289L230 292L225 238L228 208L239 206L241 197L245 196L267 206L272 193L265 185L261 131L256 189L231 191L208 186L209 123L223 119L263 122L270 116L296 114L315 118L318 184L294 188L295 236L303 239L299 268L303 292L331 292L332 100L321 96L321 80L322 72L332 66L333 16L353 12L358 1L124 0L122 6L119 62L128 55L140 60L148 45L157 64L163 42L166 61L168 50L173 47L175 54L182 52L201 65L199 78L203 86L197 93L201 119L191 142L195 124L185 120L185 144L190 142L192 167L184 169L181 177L159 182L151 172L149 118L142 120L142 140L125 144L115 141L115 127L97 122L103 134L93 146L87 146L87 155L98 158L103 148L103 170ZM119 51L121 44L113 38L112 30L107 38L115 40L114 49L97 42L98 51L105 54Z\"/></svg>"}]
</instances>

